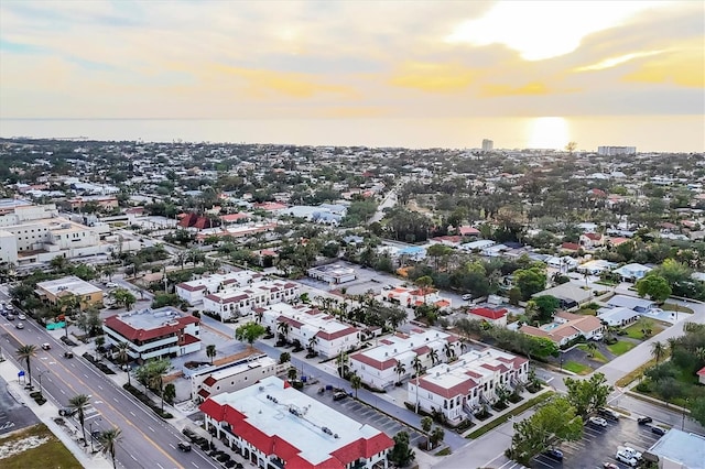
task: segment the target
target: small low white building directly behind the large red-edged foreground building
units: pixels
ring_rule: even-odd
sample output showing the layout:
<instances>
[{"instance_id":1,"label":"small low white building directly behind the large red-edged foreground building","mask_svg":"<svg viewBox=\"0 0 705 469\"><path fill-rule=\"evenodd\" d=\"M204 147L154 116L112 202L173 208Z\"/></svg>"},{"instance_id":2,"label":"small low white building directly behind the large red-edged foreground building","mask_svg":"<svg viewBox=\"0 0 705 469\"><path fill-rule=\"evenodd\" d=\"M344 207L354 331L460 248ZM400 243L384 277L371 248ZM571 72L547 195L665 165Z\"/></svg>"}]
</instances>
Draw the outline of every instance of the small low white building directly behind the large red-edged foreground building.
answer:
<instances>
[{"instance_id":1,"label":"small low white building directly behind the large red-edged foreground building","mask_svg":"<svg viewBox=\"0 0 705 469\"><path fill-rule=\"evenodd\" d=\"M192 399L197 403L226 392L239 391L267 377L283 371L278 361L265 355L250 356L220 367L207 367L191 375Z\"/></svg>"}]
</instances>

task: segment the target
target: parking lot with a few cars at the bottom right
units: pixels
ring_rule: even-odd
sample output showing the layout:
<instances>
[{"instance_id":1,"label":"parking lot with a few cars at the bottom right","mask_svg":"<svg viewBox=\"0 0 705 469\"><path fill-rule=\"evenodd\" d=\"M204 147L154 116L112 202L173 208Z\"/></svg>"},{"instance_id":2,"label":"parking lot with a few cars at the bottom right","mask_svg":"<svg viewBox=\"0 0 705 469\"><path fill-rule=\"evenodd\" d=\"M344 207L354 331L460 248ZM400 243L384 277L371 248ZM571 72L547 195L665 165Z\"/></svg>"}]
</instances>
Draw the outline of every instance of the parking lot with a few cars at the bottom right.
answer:
<instances>
[{"instance_id":1,"label":"parking lot with a few cars at the bottom right","mask_svg":"<svg viewBox=\"0 0 705 469\"><path fill-rule=\"evenodd\" d=\"M562 462L540 455L533 459L532 467L595 469L603 468L605 462L612 462L620 468L627 468L627 465L615 459L618 446L631 446L643 452L659 438L660 436L651 432L650 425L638 425L627 417L619 421L608 419L607 427L587 424L581 440L564 443L557 447L563 451Z\"/></svg>"}]
</instances>

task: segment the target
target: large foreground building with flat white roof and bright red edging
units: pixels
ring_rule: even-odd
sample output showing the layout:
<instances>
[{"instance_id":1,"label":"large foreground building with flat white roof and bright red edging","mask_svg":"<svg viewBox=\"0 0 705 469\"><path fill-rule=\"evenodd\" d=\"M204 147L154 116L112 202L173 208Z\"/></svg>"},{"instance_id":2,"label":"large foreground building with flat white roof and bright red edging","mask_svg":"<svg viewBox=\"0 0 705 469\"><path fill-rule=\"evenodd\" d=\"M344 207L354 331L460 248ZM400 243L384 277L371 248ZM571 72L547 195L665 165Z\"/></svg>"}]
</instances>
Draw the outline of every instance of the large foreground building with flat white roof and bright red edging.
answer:
<instances>
[{"instance_id":1,"label":"large foreground building with flat white roof and bright red edging","mask_svg":"<svg viewBox=\"0 0 705 469\"><path fill-rule=\"evenodd\" d=\"M394 441L269 377L200 405L206 429L258 468L386 469Z\"/></svg>"}]
</instances>

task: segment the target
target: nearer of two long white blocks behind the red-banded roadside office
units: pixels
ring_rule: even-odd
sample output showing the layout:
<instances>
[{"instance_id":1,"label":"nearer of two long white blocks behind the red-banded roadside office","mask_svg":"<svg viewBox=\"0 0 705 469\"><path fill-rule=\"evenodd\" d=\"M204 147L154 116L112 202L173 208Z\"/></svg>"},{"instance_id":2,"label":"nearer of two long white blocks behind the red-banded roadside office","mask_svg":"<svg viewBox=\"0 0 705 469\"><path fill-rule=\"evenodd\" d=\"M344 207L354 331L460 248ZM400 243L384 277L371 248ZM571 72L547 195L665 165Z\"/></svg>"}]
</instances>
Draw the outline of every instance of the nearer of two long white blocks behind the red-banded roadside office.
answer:
<instances>
[{"instance_id":1,"label":"nearer of two long white blocks behind the red-banded roadside office","mask_svg":"<svg viewBox=\"0 0 705 469\"><path fill-rule=\"evenodd\" d=\"M203 308L217 314L220 320L229 320L254 308L263 308L281 302L291 302L299 296L299 284L284 281L254 282L249 286L225 286L203 298Z\"/></svg>"}]
</instances>

